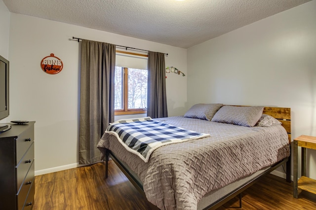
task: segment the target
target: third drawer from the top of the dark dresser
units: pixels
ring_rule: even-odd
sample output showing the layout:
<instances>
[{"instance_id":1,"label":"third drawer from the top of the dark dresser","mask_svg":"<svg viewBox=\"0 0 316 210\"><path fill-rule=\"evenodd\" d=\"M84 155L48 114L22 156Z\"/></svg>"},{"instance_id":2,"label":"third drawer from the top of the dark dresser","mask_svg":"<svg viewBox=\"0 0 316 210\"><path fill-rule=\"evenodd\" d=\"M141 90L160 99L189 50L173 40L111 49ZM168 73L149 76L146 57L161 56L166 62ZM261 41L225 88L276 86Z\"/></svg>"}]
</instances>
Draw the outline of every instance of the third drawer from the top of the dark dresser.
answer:
<instances>
[{"instance_id":1,"label":"third drawer from the top of the dark dresser","mask_svg":"<svg viewBox=\"0 0 316 210\"><path fill-rule=\"evenodd\" d=\"M25 177L24 182L22 183L22 187L17 194L18 201L18 209L21 210L26 202L26 198L28 197L29 191L34 186L34 163L31 166L31 169L27 176ZM29 194L30 196L30 194Z\"/></svg>"}]
</instances>

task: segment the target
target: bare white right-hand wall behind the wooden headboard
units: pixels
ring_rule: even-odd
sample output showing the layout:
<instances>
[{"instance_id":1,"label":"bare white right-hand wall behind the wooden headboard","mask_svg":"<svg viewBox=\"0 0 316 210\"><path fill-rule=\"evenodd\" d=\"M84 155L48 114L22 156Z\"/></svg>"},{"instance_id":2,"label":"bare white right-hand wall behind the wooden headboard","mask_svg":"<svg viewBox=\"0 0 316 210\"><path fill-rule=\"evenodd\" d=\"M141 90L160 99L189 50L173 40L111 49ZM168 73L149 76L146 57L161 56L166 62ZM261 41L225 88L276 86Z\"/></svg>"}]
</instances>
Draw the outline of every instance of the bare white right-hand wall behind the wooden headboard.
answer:
<instances>
[{"instance_id":1,"label":"bare white right-hand wall behind the wooden headboard","mask_svg":"<svg viewBox=\"0 0 316 210\"><path fill-rule=\"evenodd\" d=\"M188 107L291 108L292 138L316 136L316 0L188 49ZM308 152L316 178L316 151Z\"/></svg>"}]
</instances>

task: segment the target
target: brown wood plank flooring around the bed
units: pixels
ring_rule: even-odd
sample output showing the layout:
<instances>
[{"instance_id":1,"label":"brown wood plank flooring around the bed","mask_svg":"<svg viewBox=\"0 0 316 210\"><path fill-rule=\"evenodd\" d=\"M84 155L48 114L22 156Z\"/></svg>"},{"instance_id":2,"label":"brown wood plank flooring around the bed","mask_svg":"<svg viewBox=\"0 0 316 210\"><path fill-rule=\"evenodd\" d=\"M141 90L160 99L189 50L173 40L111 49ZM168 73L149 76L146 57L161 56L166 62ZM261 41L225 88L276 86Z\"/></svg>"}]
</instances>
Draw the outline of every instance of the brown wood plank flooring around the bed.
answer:
<instances>
[{"instance_id":1,"label":"brown wood plank flooring around the bed","mask_svg":"<svg viewBox=\"0 0 316 210\"><path fill-rule=\"evenodd\" d=\"M104 178L104 163L35 177L33 210L153 210L118 169L109 162L109 177ZM293 183L267 175L242 193L242 210L316 210L316 195L301 192L293 198ZM239 205L234 198L218 210ZM236 208L235 208L236 209Z\"/></svg>"}]
</instances>

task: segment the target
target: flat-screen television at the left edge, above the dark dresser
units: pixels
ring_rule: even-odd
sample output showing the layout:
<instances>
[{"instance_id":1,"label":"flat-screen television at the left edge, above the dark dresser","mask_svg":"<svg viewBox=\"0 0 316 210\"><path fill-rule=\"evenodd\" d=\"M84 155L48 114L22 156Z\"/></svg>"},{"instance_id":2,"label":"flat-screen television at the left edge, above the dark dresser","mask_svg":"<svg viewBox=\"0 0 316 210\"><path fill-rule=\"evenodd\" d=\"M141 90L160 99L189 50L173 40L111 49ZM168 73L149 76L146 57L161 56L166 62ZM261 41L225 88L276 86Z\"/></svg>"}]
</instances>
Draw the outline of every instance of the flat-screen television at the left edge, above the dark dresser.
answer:
<instances>
[{"instance_id":1,"label":"flat-screen television at the left edge, above the dark dresser","mask_svg":"<svg viewBox=\"0 0 316 210\"><path fill-rule=\"evenodd\" d=\"M0 56L0 119L9 116L9 61Z\"/></svg>"}]
</instances>

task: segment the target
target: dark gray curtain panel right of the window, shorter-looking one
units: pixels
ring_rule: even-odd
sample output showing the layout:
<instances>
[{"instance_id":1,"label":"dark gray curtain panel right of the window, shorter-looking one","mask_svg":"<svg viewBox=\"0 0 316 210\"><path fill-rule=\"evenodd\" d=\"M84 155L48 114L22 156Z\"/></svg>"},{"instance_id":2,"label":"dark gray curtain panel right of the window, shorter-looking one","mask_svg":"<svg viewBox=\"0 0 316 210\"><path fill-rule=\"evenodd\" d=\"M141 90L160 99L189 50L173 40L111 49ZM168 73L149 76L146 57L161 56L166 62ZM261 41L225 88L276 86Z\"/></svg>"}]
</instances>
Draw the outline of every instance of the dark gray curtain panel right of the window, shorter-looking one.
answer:
<instances>
[{"instance_id":1,"label":"dark gray curtain panel right of the window, shorter-looking one","mask_svg":"<svg viewBox=\"0 0 316 210\"><path fill-rule=\"evenodd\" d=\"M167 96L164 54L148 52L147 116L167 117Z\"/></svg>"}]
</instances>

